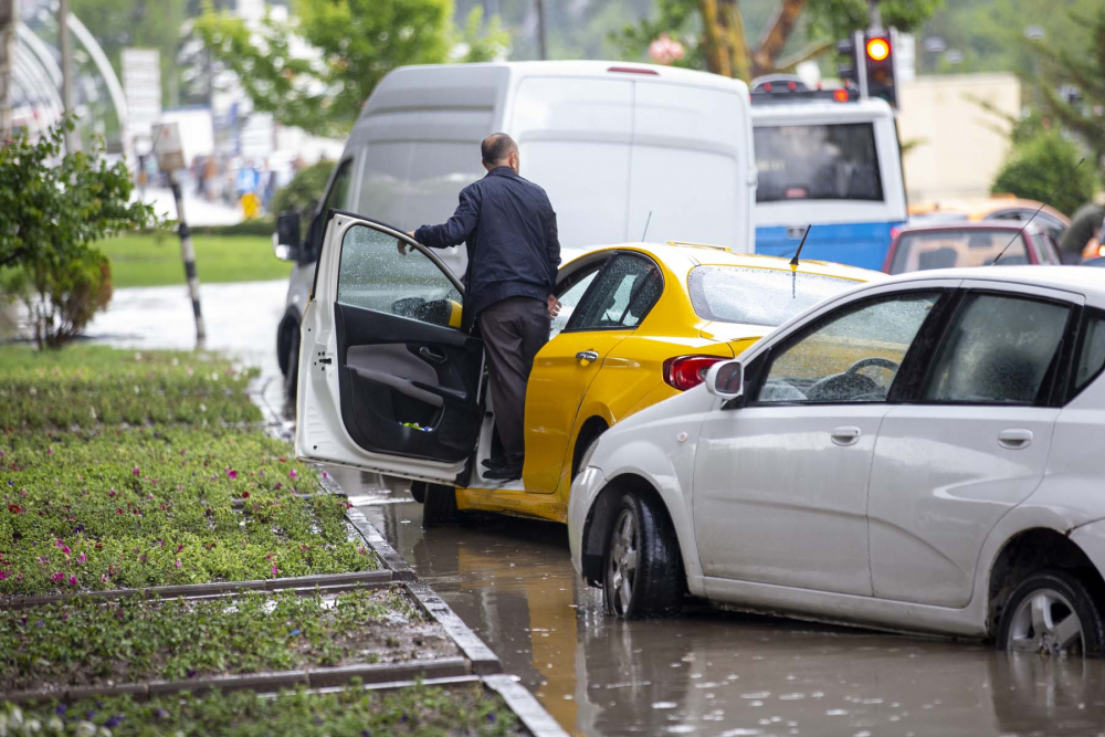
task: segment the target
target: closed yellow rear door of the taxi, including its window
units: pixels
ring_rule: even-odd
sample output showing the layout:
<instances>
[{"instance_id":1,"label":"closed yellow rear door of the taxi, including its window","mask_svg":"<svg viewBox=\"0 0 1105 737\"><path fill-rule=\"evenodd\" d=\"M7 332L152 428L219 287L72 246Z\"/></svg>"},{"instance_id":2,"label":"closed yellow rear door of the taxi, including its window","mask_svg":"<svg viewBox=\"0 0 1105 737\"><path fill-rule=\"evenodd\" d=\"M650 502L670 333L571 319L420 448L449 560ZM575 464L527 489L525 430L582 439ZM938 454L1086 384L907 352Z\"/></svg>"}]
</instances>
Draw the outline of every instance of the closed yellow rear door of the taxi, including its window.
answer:
<instances>
[{"instance_id":1,"label":"closed yellow rear door of the taxi, including its window","mask_svg":"<svg viewBox=\"0 0 1105 737\"><path fill-rule=\"evenodd\" d=\"M640 317L634 307L651 306L657 288L662 288L662 277L656 264L643 254L621 252L596 271L581 274L560 297L570 315L537 354L526 390L522 474L526 492L557 491L564 464L571 460L583 394L607 356L633 334Z\"/></svg>"}]
</instances>

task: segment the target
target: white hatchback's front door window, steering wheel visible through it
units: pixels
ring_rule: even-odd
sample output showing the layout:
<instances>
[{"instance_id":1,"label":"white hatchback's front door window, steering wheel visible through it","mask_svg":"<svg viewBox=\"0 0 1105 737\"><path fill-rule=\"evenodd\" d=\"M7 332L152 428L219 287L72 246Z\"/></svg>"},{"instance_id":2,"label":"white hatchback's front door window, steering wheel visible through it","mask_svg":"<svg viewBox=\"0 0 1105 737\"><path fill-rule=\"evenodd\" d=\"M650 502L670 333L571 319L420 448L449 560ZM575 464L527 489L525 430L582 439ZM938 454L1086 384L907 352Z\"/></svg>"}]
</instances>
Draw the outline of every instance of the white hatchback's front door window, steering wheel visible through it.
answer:
<instances>
[{"instance_id":1,"label":"white hatchback's front door window, steering wheel visible through it","mask_svg":"<svg viewBox=\"0 0 1105 737\"><path fill-rule=\"evenodd\" d=\"M938 292L849 306L774 356L756 402L885 401Z\"/></svg>"}]
</instances>

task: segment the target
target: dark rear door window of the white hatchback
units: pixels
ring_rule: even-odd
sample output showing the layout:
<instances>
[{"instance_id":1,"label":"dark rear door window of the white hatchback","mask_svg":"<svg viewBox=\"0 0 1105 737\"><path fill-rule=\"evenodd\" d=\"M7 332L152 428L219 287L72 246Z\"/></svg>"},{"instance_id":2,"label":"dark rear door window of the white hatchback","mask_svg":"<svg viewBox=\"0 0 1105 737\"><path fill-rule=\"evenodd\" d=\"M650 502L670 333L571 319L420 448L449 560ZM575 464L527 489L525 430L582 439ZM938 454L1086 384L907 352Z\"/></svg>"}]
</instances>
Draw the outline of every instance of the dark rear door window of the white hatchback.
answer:
<instances>
[{"instance_id":1,"label":"dark rear door window of the white hatchback","mask_svg":"<svg viewBox=\"0 0 1105 737\"><path fill-rule=\"evenodd\" d=\"M1034 404L1069 315L1052 302L969 294L936 354L924 401Z\"/></svg>"}]
</instances>

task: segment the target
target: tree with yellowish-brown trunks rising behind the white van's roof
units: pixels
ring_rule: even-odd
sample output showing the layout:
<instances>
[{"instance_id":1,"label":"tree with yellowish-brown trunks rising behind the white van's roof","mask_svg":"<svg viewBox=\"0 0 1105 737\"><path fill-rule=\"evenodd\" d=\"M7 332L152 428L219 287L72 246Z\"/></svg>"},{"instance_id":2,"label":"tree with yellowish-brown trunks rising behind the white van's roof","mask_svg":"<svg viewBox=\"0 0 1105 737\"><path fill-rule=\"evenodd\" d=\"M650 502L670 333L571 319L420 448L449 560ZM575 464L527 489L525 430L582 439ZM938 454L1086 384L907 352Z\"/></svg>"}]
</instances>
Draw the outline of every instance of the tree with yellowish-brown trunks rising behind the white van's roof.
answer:
<instances>
[{"instance_id":1,"label":"tree with yellowish-brown trunks rising behind the white van's roof","mask_svg":"<svg viewBox=\"0 0 1105 737\"><path fill-rule=\"evenodd\" d=\"M944 0L883 0L883 23L912 30L932 15ZM741 80L792 67L811 59L833 41L867 27L866 0L779 0L775 14L764 24L754 48L747 42L745 14L739 0L659 0L657 17L629 25L615 42L631 56L660 33L684 41L690 53L682 66L705 69ZM800 21L806 19L808 36L803 48L793 49ZM782 54L793 53L783 59Z\"/></svg>"}]
</instances>

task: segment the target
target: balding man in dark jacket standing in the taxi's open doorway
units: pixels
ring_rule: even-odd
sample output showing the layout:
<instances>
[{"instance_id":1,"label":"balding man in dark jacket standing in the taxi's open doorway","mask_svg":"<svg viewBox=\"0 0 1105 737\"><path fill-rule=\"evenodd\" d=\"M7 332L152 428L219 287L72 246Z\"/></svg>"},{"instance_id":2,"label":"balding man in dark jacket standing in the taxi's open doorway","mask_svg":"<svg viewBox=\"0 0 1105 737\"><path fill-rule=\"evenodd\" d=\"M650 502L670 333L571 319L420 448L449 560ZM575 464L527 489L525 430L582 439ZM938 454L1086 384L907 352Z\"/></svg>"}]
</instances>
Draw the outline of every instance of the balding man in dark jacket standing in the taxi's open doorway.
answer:
<instances>
[{"instance_id":1,"label":"balding man in dark jacket standing in the taxi's open doorway","mask_svg":"<svg viewBox=\"0 0 1105 737\"><path fill-rule=\"evenodd\" d=\"M485 461L485 478L522 477L526 382L534 357L548 343L560 242L556 212L537 185L518 173L518 145L504 133L480 146L487 175L461 190L448 222L411 233L444 249L466 243L464 323L478 328L491 369L491 397L503 455ZM406 253L402 242L399 252Z\"/></svg>"}]
</instances>

